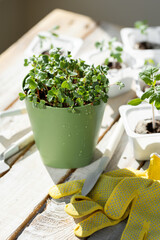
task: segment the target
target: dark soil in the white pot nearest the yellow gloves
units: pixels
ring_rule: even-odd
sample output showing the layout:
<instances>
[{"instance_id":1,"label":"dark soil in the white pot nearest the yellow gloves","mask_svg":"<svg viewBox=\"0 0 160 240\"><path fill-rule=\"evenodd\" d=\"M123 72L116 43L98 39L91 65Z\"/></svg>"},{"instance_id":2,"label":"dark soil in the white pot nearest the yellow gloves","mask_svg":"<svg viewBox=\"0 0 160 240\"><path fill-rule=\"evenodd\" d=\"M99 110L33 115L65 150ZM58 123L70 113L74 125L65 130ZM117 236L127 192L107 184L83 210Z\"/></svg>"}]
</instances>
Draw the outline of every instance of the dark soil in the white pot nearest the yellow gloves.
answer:
<instances>
[{"instance_id":1,"label":"dark soil in the white pot nearest the yellow gloves","mask_svg":"<svg viewBox=\"0 0 160 240\"><path fill-rule=\"evenodd\" d=\"M155 120L156 128L152 127L152 119L144 119L137 123L135 133L139 134L152 134L160 133L160 120Z\"/></svg>"}]
</instances>

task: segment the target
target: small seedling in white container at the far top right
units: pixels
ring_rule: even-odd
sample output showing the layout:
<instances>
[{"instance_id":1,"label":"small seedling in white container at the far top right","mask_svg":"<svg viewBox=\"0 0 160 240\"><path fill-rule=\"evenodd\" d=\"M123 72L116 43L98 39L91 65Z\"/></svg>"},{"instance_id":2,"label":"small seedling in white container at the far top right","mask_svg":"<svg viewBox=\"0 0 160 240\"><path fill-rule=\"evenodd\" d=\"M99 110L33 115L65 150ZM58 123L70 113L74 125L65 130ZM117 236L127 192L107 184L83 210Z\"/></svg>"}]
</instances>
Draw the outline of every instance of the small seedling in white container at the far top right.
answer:
<instances>
[{"instance_id":1,"label":"small seedling in white container at the far top right","mask_svg":"<svg viewBox=\"0 0 160 240\"><path fill-rule=\"evenodd\" d=\"M134 28L122 28L124 48L139 59L160 58L160 27L149 27L147 21L136 21Z\"/></svg>"}]
</instances>

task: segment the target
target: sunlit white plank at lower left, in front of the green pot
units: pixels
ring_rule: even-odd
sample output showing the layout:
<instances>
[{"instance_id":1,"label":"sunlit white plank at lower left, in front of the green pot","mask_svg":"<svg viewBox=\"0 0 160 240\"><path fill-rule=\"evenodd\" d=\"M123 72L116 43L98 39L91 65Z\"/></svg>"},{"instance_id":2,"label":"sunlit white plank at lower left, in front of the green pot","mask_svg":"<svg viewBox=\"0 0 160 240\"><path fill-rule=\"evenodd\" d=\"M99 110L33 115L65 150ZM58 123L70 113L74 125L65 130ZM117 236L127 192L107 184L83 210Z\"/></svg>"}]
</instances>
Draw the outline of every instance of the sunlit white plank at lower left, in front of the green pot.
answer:
<instances>
[{"instance_id":1,"label":"sunlit white plank at lower left, in front of the green pot","mask_svg":"<svg viewBox=\"0 0 160 240\"><path fill-rule=\"evenodd\" d=\"M36 214L38 206L46 200L50 186L66 172L66 169L56 169L51 179L35 147L13 165L0 179L1 239L21 229L26 219Z\"/></svg>"}]
</instances>

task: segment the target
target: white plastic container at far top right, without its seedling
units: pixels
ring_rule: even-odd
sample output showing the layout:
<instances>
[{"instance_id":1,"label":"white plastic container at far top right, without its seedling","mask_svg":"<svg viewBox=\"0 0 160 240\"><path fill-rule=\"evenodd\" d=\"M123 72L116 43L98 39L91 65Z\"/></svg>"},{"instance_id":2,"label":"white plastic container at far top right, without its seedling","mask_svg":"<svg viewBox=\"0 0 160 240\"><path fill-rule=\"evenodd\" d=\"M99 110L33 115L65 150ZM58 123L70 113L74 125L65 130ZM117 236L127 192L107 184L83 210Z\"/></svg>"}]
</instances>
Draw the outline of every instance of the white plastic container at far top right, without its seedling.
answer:
<instances>
[{"instance_id":1,"label":"white plastic container at far top right, without its seedling","mask_svg":"<svg viewBox=\"0 0 160 240\"><path fill-rule=\"evenodd\" d=\"M140 50L134 48L135 44L141 41L160 44L160 27L149 27L146 35L141 34L140 30L135 28L122 28L120 33L124 49L133 57L143 60L160 60L160 49Z\"/></svg>"}]
</instances>

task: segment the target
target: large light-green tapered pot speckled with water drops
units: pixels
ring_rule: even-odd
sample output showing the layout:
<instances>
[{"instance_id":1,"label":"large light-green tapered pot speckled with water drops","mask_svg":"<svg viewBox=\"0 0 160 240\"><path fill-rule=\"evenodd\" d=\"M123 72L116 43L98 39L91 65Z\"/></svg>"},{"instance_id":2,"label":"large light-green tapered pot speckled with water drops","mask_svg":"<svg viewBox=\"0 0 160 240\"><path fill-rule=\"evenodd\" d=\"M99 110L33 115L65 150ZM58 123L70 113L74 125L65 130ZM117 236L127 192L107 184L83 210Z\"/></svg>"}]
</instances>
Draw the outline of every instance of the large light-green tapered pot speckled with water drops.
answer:
<instances>
[{"instance_id":1,"label":"large light-green tapered pot speckled with water drops","mask_svg":"<svg viewBox=\"0 0 160 240\"><path fill-rule=\"evenodd\" d=\"M26 99L36 146L45 165L79 168L88 165L98 140L105 104L38 109Z\"/></svg>"}]
</instances>

